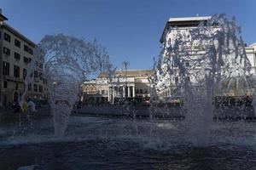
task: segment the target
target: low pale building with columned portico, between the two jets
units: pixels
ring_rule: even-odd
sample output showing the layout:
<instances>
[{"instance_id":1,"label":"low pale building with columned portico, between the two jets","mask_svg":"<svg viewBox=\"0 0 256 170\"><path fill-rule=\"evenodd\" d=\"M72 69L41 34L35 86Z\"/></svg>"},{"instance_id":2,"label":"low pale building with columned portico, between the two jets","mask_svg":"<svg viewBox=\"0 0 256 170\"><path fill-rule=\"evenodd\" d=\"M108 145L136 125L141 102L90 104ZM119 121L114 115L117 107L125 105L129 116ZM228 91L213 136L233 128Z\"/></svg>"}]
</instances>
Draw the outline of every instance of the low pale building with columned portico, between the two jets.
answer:
<instances>
[{"instance_id":1,"label":"low pale building with columned portico, between the two jets","mask_svg":"<svg viewBox=\"0 0 256 170\"><path fill-rule=\"evenodd\" d=\"M84 81L83 100L89 103L113 102L119 99L148 99L148 77L154 75L152 70L115 71L110 82L105 73L95 80Z\"/></svg>"}]
</instances>

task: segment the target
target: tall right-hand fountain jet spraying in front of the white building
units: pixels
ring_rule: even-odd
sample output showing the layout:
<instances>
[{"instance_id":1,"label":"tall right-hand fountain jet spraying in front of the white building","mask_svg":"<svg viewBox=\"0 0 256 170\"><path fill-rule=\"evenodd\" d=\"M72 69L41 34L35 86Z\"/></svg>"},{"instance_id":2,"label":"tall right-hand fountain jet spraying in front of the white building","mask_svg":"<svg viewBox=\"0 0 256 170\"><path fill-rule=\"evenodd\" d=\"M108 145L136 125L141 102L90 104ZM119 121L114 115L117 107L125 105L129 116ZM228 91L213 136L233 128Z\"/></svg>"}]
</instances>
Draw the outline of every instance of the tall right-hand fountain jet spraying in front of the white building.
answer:
<instances>
[{"instance_id":1,"label":"tall right-hand fountain jet spraying in front of the white building","mask_svg":"<svg viewBox=\"0 0 256 170\"><path fill-rule=\"evenodd\" d=\"M219 94L221 82L232 77L246 80L249 75L240 28L235 19L219 14L196 27L171 26L166 35L156 84L171 80L171 97L183 99L191 141L204 146L212 126L213 99Z\"/></svg>"}]
</instances>

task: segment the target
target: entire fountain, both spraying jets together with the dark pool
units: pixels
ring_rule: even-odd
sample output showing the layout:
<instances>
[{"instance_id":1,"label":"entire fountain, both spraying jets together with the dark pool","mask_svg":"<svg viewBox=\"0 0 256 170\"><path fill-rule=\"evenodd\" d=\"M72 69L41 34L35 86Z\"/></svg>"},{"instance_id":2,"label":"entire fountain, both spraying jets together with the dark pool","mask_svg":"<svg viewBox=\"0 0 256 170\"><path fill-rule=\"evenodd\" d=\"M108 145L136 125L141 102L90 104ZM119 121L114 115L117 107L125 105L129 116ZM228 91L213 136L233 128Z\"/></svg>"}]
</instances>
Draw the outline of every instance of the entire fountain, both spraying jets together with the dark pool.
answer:
<instances>
[{"instance_id":1,"label":"entire fountain, both spraying jets together with the dark pool","mask_svg":"<svg viewBox=\"0 0 256 170\"><path fill-rule=\"evenodd\" d=\"M212 31L212 26L217 29ZM137 119L137 112L131 111L132 120L69 117L84 75L106 70L113 88L114 70L109 69L106 56L96 53L99 51L96 45L63 35L44 37L35 57L42 54L45 59L44 74L48 76L54 127L51 119L37 120L31 132L12 135L17 126L1 124L0 169L256 167L255 122L212 121L216 116L216 97L230 97L232 93L250 97L254 84L254 79L249 80L250 65L235 20L229 21L221 14L184 34L175 27L169 31L175 34L175 39L166 40L155 65L157 76L149 78L149 119ZM102 57L95 60L99 56ZM98 65L100 60L102 65ZM36 59L32 60L27 75L35 65ZM180 101L178 109L184 119L155 118L160 111L168 111L160 107L158 95L158 85L165 77L174 81L172 96L166 102ZM32 77L26 77L25 92L29 82ZM241 90L234 93L233 87ZM132 108L128 106L128 109ZM117 112L123 110L119 107ZM174 113L170 111L170 114ZM55 135L52 135L53 128Z\"/></svg>"}]
</instances>

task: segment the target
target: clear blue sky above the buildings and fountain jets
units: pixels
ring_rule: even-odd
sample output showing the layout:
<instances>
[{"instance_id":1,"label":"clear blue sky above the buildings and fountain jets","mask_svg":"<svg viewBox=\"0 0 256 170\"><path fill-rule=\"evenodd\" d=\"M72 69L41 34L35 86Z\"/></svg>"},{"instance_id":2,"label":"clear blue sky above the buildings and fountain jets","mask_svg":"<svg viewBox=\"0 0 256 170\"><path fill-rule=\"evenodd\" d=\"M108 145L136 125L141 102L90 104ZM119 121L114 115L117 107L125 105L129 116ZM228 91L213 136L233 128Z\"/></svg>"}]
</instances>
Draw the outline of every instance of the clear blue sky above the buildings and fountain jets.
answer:
<instances>
[{"instance_id":1,"label":"clear blue sky above the buildings and fountain jets","mask_svg":"<svg viewBox=\"0 0 256 170\"><path fill-rule=\"evenodd\" d=\"M115 65L126 59L130 69L152 67L170 17L225 13L236 17L244 42L256 42L255 0L1 0L0 8L33 42L61 32L96 37Z\"/></svg>"}]
</instances>

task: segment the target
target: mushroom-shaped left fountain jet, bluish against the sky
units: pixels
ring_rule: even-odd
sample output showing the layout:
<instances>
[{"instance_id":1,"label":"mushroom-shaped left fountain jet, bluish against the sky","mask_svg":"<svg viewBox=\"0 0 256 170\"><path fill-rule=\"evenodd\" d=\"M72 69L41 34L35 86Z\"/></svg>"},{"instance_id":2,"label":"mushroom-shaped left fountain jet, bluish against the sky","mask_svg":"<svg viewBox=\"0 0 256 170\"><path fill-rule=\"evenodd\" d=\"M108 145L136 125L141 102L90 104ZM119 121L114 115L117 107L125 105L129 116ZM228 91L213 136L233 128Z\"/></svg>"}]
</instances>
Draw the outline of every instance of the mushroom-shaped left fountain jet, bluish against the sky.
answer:
<instances>
[{"instance_id":1,"label":"mushroom-shaped left fountain jet, bluish against the sky","mask_svg":"<svg viewBox=\"0 0 256 170\"><path fill-rule=\"evenodd\" d=\"M55 136L62 137L67 127L68 116L79 100L79 88L86 77L107 71L112 66L105 49L95 42L88 43L63 34L45 36L28 66L31 75L38 59L44 60L44 75L48 82L49 105L53 115ZM26 77L26 89L32 77Z\"/></svg>"}]
</instances>

